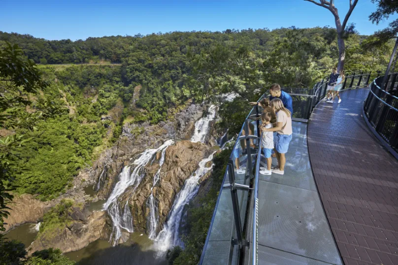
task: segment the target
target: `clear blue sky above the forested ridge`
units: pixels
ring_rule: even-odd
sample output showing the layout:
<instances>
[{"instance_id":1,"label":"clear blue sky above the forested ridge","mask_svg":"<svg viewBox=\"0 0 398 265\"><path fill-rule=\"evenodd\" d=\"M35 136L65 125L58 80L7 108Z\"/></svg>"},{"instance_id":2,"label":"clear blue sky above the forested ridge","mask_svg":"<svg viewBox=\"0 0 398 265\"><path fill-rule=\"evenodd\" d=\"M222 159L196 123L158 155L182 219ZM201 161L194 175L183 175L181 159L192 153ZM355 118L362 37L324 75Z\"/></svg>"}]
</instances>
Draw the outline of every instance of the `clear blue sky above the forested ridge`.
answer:
<instances>
[{"instance_id":1,"label":"clear blue sky above the forested ridge","mask_svg":"<svg viewBox=\"0 0 398 265\"><path fill-rule=\"evenodd\" d=\"M349 0L335 0L340 18ZM332 13L303 0L2 0L0 30L45 39L86 39L169 31L334 27ZM383 29L368 15L376 6L359 0L349 22L361 34Z\"/></svg>"}]
</instances>

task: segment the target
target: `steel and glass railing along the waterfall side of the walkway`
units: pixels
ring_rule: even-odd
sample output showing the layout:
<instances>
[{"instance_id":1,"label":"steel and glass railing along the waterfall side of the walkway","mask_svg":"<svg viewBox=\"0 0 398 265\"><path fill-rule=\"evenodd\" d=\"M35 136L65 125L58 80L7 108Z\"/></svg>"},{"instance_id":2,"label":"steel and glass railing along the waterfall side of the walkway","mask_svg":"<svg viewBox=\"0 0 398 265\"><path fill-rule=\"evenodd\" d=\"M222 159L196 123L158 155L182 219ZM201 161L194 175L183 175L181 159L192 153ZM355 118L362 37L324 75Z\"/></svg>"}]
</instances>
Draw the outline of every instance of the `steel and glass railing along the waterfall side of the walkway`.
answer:
<instances>
[{"instance_id":1,"label":"steel and glass railing along the waterfall side of the walkway","mask_svg":"<svg viewBox=\"0 0 398 265\"><path fill-rule=\"evenodd\" d=\"M347 76L344 81L344 89L367 86L370 74L361 73L359 75L353 74ZM328 82L329 79L326 78L317 82L313 88L282 88L282 90L292 96L294 109L292 117L294 120L305 122L309 119L313 108L325 97ZM268 96L268 94L264 93L260 99L265 96ZM258 264L258 183L262 141L260 133L261 121L259 117L261 112L262 108L259 105L254 106L237 135L217 198L199 265L239 265L243 263L243 259L248 260L251 265ZM250 147L250 140L253 140L256 146L253 150ZM241 141L244 141L245 148L241 146ZM244 155L243 150L246 151ZM246 166L242 179L236 178L237 168L234 163L236 159L234 153L236 154L236 151L238 153L242 151L241 157L238 158L239 168ZM226 201L229 203L226 203ZM227 213L231 218L223 216ZM250 214L252 214L251 219L249 218ZM231 233L227 236L220 235L219 231L216 231L225 229L226 227L226 231ZM251 229L248 229L249 227ZM229 239L225 239L226 237ZM219 251L214 253L215 245L219 247L223 244L227 245L224 250L227 253L220 253ZM245 255L250 255L249 259L247 259L248 257L244 257Z\"/></svg>"}]
</instances>

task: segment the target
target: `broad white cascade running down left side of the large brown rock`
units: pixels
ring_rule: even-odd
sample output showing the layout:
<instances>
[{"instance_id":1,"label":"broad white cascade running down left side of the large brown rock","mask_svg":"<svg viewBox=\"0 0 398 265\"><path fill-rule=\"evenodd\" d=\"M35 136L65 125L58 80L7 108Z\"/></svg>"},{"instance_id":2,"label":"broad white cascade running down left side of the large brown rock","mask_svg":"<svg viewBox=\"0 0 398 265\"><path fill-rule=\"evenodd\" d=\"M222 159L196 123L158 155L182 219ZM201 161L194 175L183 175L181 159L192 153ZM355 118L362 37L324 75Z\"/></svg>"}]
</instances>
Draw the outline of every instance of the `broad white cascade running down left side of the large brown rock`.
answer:
<instances>
[{"instance_id":1,"label":"broad white cascade running down left side of the large brown rock","mask_svg":"<svg viewBox=\"0 0 398 265\"><path fill-rule=\"evenodd\" d=\"M128 187L133 186L133 192L138 187L142 178L145 176L144 167L156 152L172 145L173 140L167 140L162 146L156 149L146 149L141 155L134 160L131 166L123 168L119 174L119 181L116 183L108 200L103 205L103 209L107 210L113 222L113 229L109 241L113 241L113 245L118 243L119 238L122 236L122 229L128 232L133 232L133 216L130 211L129 203L127 200L123 212L118 198L126 191ZM135 167L134 167L135 166ZM133 172L131 168L134 167Z\"/></svg>"}]
</instances>

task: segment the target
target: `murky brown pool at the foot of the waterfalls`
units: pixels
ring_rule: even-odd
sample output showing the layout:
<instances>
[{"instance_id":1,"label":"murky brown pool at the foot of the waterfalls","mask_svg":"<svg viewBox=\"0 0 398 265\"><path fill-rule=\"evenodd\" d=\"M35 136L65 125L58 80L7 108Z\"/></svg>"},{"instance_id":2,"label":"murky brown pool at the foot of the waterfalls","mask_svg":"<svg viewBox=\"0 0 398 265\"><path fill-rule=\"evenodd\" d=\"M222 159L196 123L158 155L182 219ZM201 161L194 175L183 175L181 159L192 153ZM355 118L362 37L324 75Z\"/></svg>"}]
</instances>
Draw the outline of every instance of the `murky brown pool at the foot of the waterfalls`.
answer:
<instances>
[{"instance_id":1,"label":"murky brown pool at the foot of the waterfalls","mask_svg":"<svg viewBox=\"0 0 398 265\"><path fill-rule=\"evenodd\" d=\"M156 258L152 244L145 234L132 233L127 242L115 247L107 240L99 239L65 256L78 265L166 265L164 259Z\"/></svg>"}]
</instances>

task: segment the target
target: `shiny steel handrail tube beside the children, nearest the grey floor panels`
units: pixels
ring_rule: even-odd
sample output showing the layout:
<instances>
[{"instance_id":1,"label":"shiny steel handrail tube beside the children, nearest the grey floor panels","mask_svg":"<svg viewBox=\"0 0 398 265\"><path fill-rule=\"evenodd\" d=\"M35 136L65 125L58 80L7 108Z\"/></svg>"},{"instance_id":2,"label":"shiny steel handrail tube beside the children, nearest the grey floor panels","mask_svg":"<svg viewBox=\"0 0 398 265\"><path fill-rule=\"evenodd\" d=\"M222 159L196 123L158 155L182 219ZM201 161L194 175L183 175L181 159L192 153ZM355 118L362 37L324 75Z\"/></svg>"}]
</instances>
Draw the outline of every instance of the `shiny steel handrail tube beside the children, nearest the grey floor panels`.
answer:
<instances>
[{"instance_id":1,"label":"shiny steel handrail tube beside the children, nearest the grey floor panels","mask_svg":"<svg viewBox=\"0 0 398 265\"><path fill-rule=\"evenodd\" d=\"M263 144L263 133L261 133L259 141L259 150L257 152L257 162L256 162L256 175L254 177L254 203L253 203L253 220L252 220L252 265L258 264L258 211L259 211L259 175L260 175L260 163L261 163L261 146Z\"/></svg>"}]
</instances>

